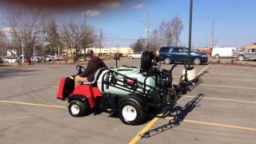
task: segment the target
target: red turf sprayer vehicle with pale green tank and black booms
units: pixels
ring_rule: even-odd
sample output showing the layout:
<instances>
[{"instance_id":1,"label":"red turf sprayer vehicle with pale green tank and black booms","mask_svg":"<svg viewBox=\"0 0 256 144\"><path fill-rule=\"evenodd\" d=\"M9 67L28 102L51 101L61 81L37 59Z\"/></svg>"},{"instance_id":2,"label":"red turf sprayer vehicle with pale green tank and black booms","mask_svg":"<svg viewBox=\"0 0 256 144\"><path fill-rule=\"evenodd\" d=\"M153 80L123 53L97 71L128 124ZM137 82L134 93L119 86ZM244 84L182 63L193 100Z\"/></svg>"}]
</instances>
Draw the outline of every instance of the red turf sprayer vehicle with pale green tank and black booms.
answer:
<instances>
[{"instance_id":1,"label":"red turf sprayer vehicle with pale green tank and black booms","mask_svg":"<svg viewBox=\"0 0 256 144\"><path fill-rule=\"evenodd\" d=\"M198 82L199 77L188 80L185 74L180 82L173 84L172 71L162 70L161 62L156 60L154 52L142 54L140 69L123 66L114 69L100 69L94 76L94 82L84 82L74 86L74 78L62 78L58 98L69 102L69 112L74 117L88 115L94 110L118 114L122 122L138 125L145 122L153 107L162 104L174 105L182 94L186 94ZM78 74L84 67L77 66Z\"/></svg>"}]
</instances>

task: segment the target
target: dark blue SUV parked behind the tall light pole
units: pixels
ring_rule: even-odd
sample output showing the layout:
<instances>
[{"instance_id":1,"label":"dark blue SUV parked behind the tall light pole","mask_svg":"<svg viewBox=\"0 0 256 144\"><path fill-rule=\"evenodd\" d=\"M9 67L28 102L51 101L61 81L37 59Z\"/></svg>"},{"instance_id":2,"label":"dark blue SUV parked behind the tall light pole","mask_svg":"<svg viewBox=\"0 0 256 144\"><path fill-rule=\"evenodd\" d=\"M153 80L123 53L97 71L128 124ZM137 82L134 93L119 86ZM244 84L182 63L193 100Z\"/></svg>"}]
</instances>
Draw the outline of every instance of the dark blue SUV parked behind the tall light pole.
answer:
<instances>
[{"instance_id":1,"label":"dark blue SUV parked behind the tall light pole","mask_svg":"<svg viewBox=\"0 0 256 144\"><path fill-rule=\"evenodd\" d=\"M170 64L172 62L188 62L188 51L189 49L186 47L161 47L161 49L159 50L159 59L166 64ZM190 54L191 62L193 62L194 65L204 64L208 61L207 55L205 53L193 52Z\"/></svg>"}]
</instances>

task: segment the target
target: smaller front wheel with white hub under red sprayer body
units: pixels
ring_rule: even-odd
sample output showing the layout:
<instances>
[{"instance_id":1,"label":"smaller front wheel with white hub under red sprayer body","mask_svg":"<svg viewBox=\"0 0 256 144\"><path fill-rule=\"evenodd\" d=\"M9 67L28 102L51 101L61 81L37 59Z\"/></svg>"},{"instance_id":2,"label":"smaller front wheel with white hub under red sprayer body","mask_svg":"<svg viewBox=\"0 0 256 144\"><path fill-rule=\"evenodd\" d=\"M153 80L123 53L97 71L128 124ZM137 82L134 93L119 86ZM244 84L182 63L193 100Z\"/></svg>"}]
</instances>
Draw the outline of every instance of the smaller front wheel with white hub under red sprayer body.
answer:
<instances>
[{"instance_id":1,"label":"smaller front wheel with white hub under red sprayer body","mask_svg":"<svg viewBox=\"0 0 256 144\"><path fill-rule=\"evenodd\" d=\"M70 102L69 112L73 117L82 117L90 114L90 106L87 102L73 100Z\"/></svg>"}]
</instances>

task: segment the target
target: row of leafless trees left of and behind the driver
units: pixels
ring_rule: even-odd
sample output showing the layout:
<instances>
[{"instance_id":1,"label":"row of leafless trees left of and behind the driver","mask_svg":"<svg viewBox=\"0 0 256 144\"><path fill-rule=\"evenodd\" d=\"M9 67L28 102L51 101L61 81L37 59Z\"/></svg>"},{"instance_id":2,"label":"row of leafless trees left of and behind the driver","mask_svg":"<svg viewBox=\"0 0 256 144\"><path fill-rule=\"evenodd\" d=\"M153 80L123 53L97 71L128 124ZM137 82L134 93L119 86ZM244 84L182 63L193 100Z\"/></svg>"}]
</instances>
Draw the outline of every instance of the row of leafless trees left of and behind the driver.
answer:
<instances>
[{"instance_id":1,"label":"row of leafless trees left of and behind the driver","mask_svg":"<svg viewBox=\"0 0 256 144\"><path fill-rule=\"evenodd\" d=\"M98 31L93 26L81 26L70 19L57 26L55 19L42 10L8 10L5 29L0 30L0 49L16 50L31 58L33 50L41 55L58 54L58 50L70 50L74 60L87 47L96 46ZM0 52L1 52L0 50Z\"/></svg>"}]
</instances>

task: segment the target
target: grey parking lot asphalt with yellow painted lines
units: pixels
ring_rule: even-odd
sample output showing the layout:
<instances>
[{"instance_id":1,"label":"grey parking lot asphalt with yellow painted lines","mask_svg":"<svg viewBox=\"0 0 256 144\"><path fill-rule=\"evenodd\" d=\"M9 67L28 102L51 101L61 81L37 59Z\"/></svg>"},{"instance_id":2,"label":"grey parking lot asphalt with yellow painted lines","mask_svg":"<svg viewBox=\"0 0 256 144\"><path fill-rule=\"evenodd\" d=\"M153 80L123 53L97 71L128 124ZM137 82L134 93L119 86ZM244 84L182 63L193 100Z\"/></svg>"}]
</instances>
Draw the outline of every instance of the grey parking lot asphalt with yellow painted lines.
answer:
<instances>
[{"instance_id":1,"label":"grey parking lot asphalt with yellow painted lines","mask_svg":"<svg viewBox=\"0 0 256 144\"><path fill-rule=\"evenodd\" d=\"M114 61L106 61L111 67ZM119 66L140 66L122 59ZM170 65L162 65L170 68ZM61 77L75 65L0 68L0 143L254 143L256 142L256 67L195 66L202 84L175 106L176 120L156 117L126 126L110 114L71 117L56 98ZM182 65L174 70L178 82ZM161 116L158 115L158 116Z\"/></svg>"}]
</instances>

